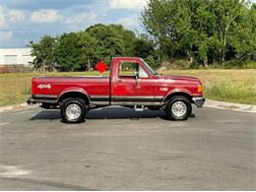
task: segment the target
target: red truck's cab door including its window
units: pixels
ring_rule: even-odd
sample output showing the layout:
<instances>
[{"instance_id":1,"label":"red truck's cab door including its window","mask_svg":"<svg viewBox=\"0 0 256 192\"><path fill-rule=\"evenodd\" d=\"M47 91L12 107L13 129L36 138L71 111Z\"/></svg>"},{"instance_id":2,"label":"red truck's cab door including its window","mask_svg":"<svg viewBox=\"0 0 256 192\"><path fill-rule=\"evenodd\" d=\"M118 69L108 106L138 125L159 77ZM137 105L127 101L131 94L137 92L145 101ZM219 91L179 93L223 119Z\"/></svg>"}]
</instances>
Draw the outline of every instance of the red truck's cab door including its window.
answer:
<instances>
[{"instance_id":1,"label":"red truck's cab door including its window","mask_svg":"<svg viewBox=\"0 0 256 192\"><path fill-rule=\"evenodd\" d=\"M111 85L111 104L154 104L155 81L140 62L119 62L118 75Z\"/></svg>"}]
</instances>

